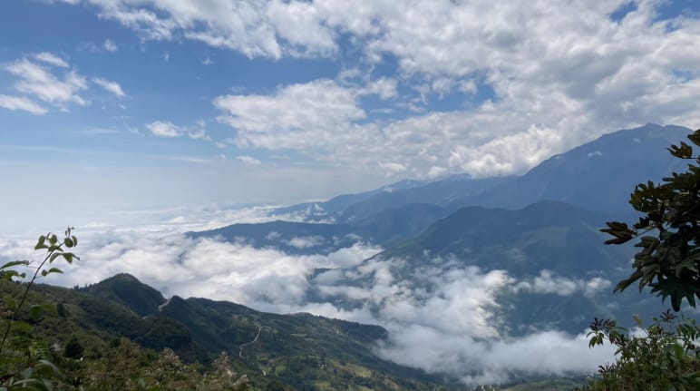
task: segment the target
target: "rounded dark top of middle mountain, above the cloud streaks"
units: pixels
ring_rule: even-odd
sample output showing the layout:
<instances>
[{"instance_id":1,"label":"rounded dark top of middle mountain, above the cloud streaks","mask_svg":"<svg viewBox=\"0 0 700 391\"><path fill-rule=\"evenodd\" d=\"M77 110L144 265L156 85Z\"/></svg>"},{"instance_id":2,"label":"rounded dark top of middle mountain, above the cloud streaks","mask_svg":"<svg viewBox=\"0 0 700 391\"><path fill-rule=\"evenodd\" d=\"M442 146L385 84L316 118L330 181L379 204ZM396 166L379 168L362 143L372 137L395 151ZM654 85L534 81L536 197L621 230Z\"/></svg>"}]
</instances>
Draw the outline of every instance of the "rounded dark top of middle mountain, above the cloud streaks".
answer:
<instances>
[{"instance_id":1,"label":"rounded dark top of middle mountain, above the cloud streaks","mask_svg":"<svg viewBox=\"0 0 700 391\"><path fill-rule=\"evenodd\" d=\"M624 265L622 251L598 245L604 218L573 205L541 201L521 210L467 207L438 220L415 239L377 255L412 261L448 255L465 265L536 275L541 269L565 276Z\"/></svg>"}]
</instances>

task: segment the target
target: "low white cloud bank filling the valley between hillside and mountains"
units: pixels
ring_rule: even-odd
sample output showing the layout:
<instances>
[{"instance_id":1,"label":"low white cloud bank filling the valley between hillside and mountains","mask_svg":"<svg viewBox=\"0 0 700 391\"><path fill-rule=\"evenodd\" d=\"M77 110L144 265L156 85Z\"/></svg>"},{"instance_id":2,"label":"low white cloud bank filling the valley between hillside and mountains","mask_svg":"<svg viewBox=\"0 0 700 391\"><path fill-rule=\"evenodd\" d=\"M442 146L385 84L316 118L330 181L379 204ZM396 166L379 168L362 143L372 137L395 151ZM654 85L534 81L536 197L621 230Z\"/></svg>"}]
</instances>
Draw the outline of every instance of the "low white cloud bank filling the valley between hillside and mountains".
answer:
<instances>
[{"instance_id":1,"label":"low white cloud bank filling the valley between hillside and mountains","mask_svg":"<svg viewBox=\"0 0 700 391\"><path fill-rule=\"evenodd\" d=\"M239 214L263 219L251 211ZM83 285L127 272L165 296L379 324L389 337L375 347L378 356L469 384L590 373L613 357L610 347L588 349L584 334L541 330L509 337L497 315L502 308L496 298L504 290L594 295L607 287L603 280L566 279L548 270L519 280L505 270L463 267L456 259L415 266L407 259L371 258L381 249L363 241L327 255L297 256L273 247L257 249L245 239L193 239L182 233L208 225L180 217L138 230L83 234L76 249L81 260L57 265L66 273L47 282ZM296 239L300 246L315 240ZM32 247L28 240L0 241L0 262L31 258Z\"/></svg>"}]
</instances>

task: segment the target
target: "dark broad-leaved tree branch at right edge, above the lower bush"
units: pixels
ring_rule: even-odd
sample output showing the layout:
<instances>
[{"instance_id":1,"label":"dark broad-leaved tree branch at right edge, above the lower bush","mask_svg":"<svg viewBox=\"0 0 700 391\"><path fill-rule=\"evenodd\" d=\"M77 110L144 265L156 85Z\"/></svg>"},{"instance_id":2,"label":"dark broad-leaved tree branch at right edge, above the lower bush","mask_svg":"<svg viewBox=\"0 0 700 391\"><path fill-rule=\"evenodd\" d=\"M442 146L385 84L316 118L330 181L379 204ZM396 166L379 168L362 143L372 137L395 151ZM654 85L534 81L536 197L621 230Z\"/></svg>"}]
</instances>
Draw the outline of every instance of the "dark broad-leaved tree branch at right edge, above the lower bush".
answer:
<instances>
[{"instance_id":1,"label":"dark broad-leaved tree branch at right edge, above the lower bush","mask_svg":"<svg viewBox=\"0 0 700 391\"><path fill-rule=\"evenodd\" d=\"M700 147L700 130L688 135L688 140ZM673 172L659 184L638 184L629 203L644 216L632 228L609 221L602 231L613 236L606 244L638 239L635 247L641 249L635 255L634 272L615 290L638 281L640 291L649 286L662 300L670 297L678 311L684 298L692 307L700 298L700 156L694 157L693 147L685 142L671 145L668 151L690 161L687 171Z\"/></svg>"}]
</instances>

